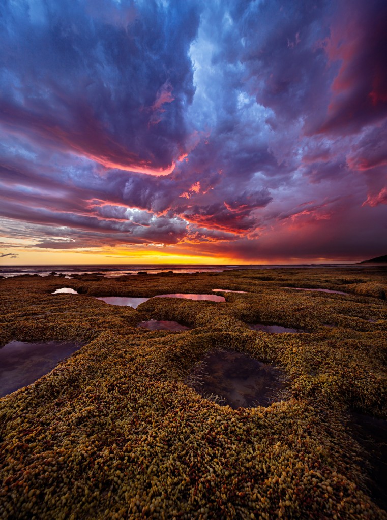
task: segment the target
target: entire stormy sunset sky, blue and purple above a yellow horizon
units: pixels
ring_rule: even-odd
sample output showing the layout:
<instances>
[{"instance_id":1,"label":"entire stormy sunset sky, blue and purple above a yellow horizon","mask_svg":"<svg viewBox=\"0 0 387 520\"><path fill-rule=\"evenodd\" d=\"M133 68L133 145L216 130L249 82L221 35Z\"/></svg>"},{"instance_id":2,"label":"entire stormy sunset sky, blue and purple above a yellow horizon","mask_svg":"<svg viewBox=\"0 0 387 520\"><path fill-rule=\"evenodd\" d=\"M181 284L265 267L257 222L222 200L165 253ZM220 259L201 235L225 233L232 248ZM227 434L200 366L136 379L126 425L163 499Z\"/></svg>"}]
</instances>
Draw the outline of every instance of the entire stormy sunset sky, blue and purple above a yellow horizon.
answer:
<instances>
[{"instance_id":1,"label":"entire stormy sunset sky, blue and purple above a yellow horizon","mask_svg":"<svg viewBox=\"0 0 387 520\"><path fill-rule=\"evenodd\" d=\"M0 262L387 254L385 0L2 0Z\"/></svg>"}]
</instances>

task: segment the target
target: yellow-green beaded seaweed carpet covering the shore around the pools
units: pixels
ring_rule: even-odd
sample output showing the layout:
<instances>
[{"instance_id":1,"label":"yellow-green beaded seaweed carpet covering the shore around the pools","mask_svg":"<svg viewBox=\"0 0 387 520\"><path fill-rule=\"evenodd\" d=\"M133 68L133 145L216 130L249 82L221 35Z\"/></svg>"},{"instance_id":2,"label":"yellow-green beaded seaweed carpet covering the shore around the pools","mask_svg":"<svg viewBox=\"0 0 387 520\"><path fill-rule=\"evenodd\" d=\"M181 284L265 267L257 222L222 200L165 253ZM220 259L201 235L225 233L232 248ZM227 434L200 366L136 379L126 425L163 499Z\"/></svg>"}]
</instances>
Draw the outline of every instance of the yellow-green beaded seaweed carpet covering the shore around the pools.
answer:
<instances>
[{"instance_id":1,"label":"yellow-green beaded seaweed carpet covering the shore around the pools","mask_svg":"<svg viewBox=\"0 0 387 520\"><path fill-rule=\"evenodd\" d=\"M61 287L81 294L51 294ZM247 293L137 309L91 297L215 288ZM383 269L22 276L0 291L0 345L87 342L0 399L0 518L387 518L347 426L349 409L387 419ZM191 330L136 327L151 318ZM258 322L308 333L246 324ZM233 410L199 396L186 382L214 348L276 363L288 398Z\"/></svg>"}]
</instances>

